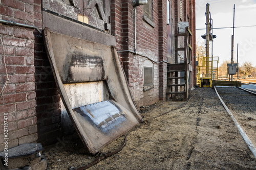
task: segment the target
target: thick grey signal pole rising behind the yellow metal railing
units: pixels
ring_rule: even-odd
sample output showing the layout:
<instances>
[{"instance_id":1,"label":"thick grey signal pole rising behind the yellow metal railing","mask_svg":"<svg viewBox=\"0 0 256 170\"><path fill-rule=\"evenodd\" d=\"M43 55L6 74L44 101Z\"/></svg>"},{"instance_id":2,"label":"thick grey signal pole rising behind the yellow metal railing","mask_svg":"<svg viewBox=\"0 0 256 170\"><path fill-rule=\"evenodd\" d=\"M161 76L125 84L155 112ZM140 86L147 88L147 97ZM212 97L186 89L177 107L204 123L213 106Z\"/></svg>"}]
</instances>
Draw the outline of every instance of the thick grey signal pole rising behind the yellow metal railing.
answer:
<instances>
[{"instance_id":1,"label":"thick grey signal pole rising behind the yellow metal railing","mask_svg":"<svg viewBox=\"0 0 256 170\"><path fill-rule=\"evenodd\" d=\"M209 76L209 40L210 40L210 4L206 4L206 75L205 77L210 77Z\"/></svg>"}]
</instances>

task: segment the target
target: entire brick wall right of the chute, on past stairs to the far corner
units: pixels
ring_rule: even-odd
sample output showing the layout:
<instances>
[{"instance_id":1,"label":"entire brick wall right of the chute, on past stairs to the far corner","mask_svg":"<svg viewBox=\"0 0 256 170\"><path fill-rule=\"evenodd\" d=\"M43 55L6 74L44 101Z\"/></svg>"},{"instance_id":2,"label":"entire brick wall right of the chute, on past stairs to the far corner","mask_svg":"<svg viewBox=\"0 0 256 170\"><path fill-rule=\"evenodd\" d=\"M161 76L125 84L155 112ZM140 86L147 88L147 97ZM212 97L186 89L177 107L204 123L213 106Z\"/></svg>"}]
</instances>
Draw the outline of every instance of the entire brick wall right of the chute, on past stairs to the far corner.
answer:
<instances>
[{"instance_id":1,"label":"entire brick wall right of the chute, on past stairs to the far corner","mask_svg":"<svg viewBox=\"0 0 256 170\"><path fill-rule=\"evenodd\" d=\"M191 3L191 1L183 0L182 2L183 9L180 11L180 0L172 0L172 18L175 33L178 31L178 22L189 21L191 25L190 30L195 34L195 16L193 16L194 13L191 13L191 5L194 3L195 8L195 1ZM111 3L112 35L116 37L117 50L134 51L134 8L132 2L112 0ZM126 78L137 106L148 105L157 100L165 100L167 65L165 62L161 61L167 60L166 4L166 0L153 1L153 20L155 28L142 20L143 7L138 6L136 8L136 50L138 53L149 56L152 60L160 62L154 63L154 88L143 91L143 61L146 58L131 52L119 53ZM180 12L183 12L182 20L180 20ZM195 35L193 35L192 39L192 44L194 44ZM179 45L183 45L184 40L181 39L179 42ZM194 53L195 51L193 50L193 56ZM180 59L178 59L178 62L180 62ZM195 65L195 63L193 63L193 65ZM195 75L193 75L193 77L195 77Z\"/></svg>"}]
</instances>

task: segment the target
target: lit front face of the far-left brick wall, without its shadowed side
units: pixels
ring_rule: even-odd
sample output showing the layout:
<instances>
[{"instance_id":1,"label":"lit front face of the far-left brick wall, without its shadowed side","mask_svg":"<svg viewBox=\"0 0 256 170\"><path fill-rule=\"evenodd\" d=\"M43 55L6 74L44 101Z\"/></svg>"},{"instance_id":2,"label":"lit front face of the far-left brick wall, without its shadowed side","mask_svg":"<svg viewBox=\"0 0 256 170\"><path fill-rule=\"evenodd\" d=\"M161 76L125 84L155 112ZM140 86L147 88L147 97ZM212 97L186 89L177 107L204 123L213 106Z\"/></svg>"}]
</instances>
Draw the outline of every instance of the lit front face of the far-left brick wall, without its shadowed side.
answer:
<instances>
[{"instance_id":1,"label":"lit front face of the far-left brick wall, without its shadowed side","mask_svg":"<svg viewBox=\"0 0 256 170\"><path fill-rule=\"evenodd\" d=\"M34 0L2 0L3 20L34 24ZM36 93L34 78L34 30L0 25L5 61L10 81L0 101L0 151L4 150L4 113L8 113L8 148L37 140ZM2 44L0 45L0 90L7 80Z\"/></svg>"}]
</instances>

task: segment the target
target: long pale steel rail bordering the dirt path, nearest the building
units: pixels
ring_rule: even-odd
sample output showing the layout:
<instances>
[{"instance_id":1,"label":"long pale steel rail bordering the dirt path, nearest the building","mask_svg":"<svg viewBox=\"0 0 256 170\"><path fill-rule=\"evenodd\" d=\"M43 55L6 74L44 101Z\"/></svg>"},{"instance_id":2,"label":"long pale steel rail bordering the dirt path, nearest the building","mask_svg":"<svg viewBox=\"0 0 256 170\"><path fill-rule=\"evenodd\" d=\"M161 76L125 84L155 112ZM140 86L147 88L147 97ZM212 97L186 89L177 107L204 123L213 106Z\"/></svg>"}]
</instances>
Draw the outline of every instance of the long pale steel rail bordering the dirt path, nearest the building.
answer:
<instances>
[{"instance_id":1,"label":"long pale steel rail bordering the dirt path, nearest the building","mask_svg":"<svg viewBox=\"0 0 256 170\"><path fill-rule=\"evenodd\" d=\"M254 147L253 143L251 142L251 140L249 139L249 137L246 135L246 133L243 131L243 129L241 128L241 126L239 125L239 123L237 122L236 118L234 118L233 114L230 112L230 110L227 108L226 104L223 102L223 100L221 99L221 96L219 95L216 87L214 86L215 92L218 95L223 107L226 109L226 111L228 112L228 114L230 115L230 117L232 118L234 125L236 125L236 127L238 128L240 134L242 135L244 141L246 142L246 144L248 145L249 149L251 150L251 153L254 155L254 157L256 158L256 148Z\"/></svg>"}]
</instances>

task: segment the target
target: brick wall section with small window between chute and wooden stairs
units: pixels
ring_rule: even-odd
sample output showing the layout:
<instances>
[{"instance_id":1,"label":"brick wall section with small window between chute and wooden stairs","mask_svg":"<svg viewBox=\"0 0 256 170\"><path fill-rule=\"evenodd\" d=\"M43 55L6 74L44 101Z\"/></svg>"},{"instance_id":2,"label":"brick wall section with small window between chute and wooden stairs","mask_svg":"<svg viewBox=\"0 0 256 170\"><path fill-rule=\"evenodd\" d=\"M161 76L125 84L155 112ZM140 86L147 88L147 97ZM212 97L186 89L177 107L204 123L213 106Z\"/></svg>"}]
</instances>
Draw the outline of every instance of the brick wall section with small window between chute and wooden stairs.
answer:
<instances>
[{"instance_id":1,"label":"brick wall section with small window between chute and wooden stairs","mask_svg":"<svg viewBox=\"0 0 256 170\"><path fill-rule=\"evenodd\" d=\"M159 58L158 1L153 1L153 21L155 28L146 23L142 19L142 15L143 7L138 6L136 8L136 50L139 54L143 54L150 59L159 62L163 60L163 58L161 58L161 60ZM112 0L111 20L112 35L116 37L117 51L130 50L133 52L135 49L135 32L134 7L132 1ZM159 68L159 64L153 62L154 88L143 91L143 61L146 60L146 58L131 52L122 52L118 54L137 106L149 105L158 101L160 84L159 69L163 69L162 65L160 66L161 68ZM163 75L161 76L163 77ZM161 86L163 89L163 84L161 84ZM161 92L163 92L163 90L161 90Z\"/></svg>"}]
</instances>

